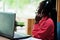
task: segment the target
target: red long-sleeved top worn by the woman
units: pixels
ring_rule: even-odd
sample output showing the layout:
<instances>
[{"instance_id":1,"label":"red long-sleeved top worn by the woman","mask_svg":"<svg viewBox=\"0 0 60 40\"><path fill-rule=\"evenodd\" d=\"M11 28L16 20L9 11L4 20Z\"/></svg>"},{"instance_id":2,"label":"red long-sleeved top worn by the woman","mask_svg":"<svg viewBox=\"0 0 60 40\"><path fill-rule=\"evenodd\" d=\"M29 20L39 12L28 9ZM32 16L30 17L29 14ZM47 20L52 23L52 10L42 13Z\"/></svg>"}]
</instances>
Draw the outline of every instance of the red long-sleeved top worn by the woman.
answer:
<instances>
[{"instance_id":1,"label":"red long-sleeved top worn by the woman","mask_svg":"<svg viewBox=\"0 0 60 40\"><path fill-rule=\"evenodd\" d=\"M32 29L32 36L42 40L54 40L54 22L51 18L43 17Z\"/></svg>"}]
</instances>

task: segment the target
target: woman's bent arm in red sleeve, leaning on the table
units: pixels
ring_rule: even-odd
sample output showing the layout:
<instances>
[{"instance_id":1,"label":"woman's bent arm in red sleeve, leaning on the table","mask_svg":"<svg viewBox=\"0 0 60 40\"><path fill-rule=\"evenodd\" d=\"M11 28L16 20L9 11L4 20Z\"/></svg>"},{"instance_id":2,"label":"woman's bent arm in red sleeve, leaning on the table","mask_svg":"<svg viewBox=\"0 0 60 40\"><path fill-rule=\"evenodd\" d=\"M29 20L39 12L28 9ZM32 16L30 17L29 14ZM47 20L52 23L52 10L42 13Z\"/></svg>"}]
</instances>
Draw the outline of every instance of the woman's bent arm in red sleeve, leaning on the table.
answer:
<instances>
[{"instance_id":1,"label":"woman's bent arm in red sleeve, leaning on the table","mask_svg":"<svg viewBox=\"0 0 60 40\"><path fill-rule=\"evenodd\" d=\"M33 37L44 38L45 36L47 36L53 29L51 23L52 22L48 20L44 25L42 25L41 28L38 24L35 24L32 30Z\"/></svg>"}]
</instances>

